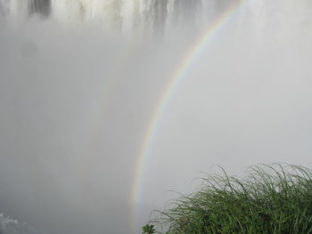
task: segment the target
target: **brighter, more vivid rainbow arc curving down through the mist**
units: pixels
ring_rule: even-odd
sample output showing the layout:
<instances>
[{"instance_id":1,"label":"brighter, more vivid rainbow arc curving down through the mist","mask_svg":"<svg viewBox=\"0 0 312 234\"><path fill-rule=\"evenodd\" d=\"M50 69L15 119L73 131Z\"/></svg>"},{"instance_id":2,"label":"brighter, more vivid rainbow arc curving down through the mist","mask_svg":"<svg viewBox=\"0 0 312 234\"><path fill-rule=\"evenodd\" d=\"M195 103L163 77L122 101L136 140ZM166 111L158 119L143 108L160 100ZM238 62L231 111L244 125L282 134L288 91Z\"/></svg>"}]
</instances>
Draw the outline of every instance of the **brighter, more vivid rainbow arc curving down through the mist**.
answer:
<instances>
[{"instance_id":1,"label":"brighter, more vivid rainbow arc curving down through the mist","mask_svg":"<svg viewBox=\"0 0 312 234\"><path fill-rule=\"evenodd\" d=\"M234 18L236 12L242 8L242 6L248 3L250 0L238 0L234 1L234 4L231 4L225 12L218 16L218 19L207 28L200 38L193 44L188 52L185 54L185 58L181 61L180 65L177 67L172 77L168 81L168 85L164 88L163 92L160 94L160 99L157 102L157 105L152 113L152 117L146 127L144 133L144 140L142 142L142 147L140 149L140 154L137 160L135 168L135 180L133 184L133 190L131 191L131 200L133 202L133 216L136 219L137 215L137 205L140 201L140 195L142 192L142 184L144 178L144 165L146 165L147 159L150 155L152 142L155 133L157 132L160 119L165 112L170 98L173 96L173 93L177 92L178 85L182 82L183 78L186 77L186 74L193 64L196 63L197 59L201 56L201 52L204 48L212 41L214 36L226 26L226 23ZM136 220L134 222L137 222Z\"/></svg>"}]
</instances>

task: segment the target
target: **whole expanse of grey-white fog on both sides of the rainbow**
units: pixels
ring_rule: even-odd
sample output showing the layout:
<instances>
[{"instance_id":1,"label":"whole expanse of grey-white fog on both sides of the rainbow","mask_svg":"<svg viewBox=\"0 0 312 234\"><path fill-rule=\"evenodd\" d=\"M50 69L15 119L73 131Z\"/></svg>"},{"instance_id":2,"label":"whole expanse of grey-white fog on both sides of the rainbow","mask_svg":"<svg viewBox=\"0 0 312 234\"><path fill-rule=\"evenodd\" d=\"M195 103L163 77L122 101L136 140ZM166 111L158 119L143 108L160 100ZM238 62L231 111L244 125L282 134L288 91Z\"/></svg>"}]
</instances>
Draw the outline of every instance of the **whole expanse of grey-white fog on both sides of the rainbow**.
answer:
<instances>
[{"instance_id":1,"label":"whole expanse of grey-white fog on both sides of the rainbow","mask_svg":"<svg viewBox=\"0 0 312 234\"><path fill-rule=\"evenodd\" d=\"M0 1L0 213L41 233L140 233L214 165L312 166L308 0L246 1L209 39L160 113L137 203L162 93L231 1L79 1L83 17L17 3Z\"/></svg>"}]
</instances>

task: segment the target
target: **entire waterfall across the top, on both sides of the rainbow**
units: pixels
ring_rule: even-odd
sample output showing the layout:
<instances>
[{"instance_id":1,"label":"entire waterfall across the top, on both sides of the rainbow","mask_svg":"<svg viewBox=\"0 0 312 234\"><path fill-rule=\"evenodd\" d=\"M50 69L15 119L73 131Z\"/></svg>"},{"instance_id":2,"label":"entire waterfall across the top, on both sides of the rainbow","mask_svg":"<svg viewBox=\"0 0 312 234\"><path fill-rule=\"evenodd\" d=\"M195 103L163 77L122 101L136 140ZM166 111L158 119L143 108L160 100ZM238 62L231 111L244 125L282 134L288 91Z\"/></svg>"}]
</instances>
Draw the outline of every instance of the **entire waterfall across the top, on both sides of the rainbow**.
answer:
<instances>
[{"instance_id":1,"label":"entire waterfall across the top, on both sides of the rainbow","mask_svg":"<svg viewBox=\"0 0 312 234\"><path fill-rule=\"evenodd\" d=\"M201 25L213 22L228 4L242 0L0 0L0 13L7 20L27 20L34 14L65 25L97 24L124 33L170 31L177 25ZM284 24L283 15L292 15L289 23L300 21L298 15L311 13L294 0L255 0L249 2L252 23L275 30ZM293 12L292 14L290 12ZM244 23L249 20L244 20ZM308 23L308 22L307 22Z\"/></svg>"}]
</instances>

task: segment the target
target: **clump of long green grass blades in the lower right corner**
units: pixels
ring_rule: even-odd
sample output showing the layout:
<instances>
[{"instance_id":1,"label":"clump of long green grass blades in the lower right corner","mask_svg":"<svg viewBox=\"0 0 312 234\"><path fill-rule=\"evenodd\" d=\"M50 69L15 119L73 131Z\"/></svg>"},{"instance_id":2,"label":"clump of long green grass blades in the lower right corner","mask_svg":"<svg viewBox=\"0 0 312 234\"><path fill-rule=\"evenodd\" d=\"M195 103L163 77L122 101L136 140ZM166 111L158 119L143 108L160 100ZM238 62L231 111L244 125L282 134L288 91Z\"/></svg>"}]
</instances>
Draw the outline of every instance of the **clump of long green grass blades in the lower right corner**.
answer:
<instances>
[{"instance_id":1,"label":"clump of long green grass blades in the lower right corner","mask_svg":"<svg viewBox=\"0 0 312 234\"><path fill-rule=\"evenodd\" d=\"M312 234L312 172L308 168L253 165L244 179L221 170L222 175L203 178L193 194L154 212L145 230L153 224L156 230L149 233Z\"/></svg>"}]
</instances>

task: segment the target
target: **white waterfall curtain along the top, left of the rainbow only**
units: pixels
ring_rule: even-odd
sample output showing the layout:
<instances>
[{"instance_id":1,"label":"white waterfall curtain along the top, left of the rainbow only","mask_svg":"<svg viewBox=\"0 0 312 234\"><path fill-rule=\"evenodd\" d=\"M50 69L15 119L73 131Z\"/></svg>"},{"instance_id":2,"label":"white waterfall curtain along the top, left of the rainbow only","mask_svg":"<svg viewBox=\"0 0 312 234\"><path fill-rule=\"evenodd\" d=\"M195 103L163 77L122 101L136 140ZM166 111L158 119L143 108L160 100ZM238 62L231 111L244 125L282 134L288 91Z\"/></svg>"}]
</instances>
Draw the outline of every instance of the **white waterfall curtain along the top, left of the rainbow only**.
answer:
<instances>
[{"instance_id":1,"label":"white waterfall curtain along the top, left of the rainbow only","mask_svg":"<svg viewBox=\"0 0 312 234\"><path fill-rule=\"evenodd\" d=\"M67 25L97 24L103 28L153 32L183 20L207 20L216 0L0 0L8 20L42 15ZM228 0L220 0L222 2ZM212 3L212 4L211 4ZM190 20L191 19L191 20Z\"/></svg>"}]
</instances>

